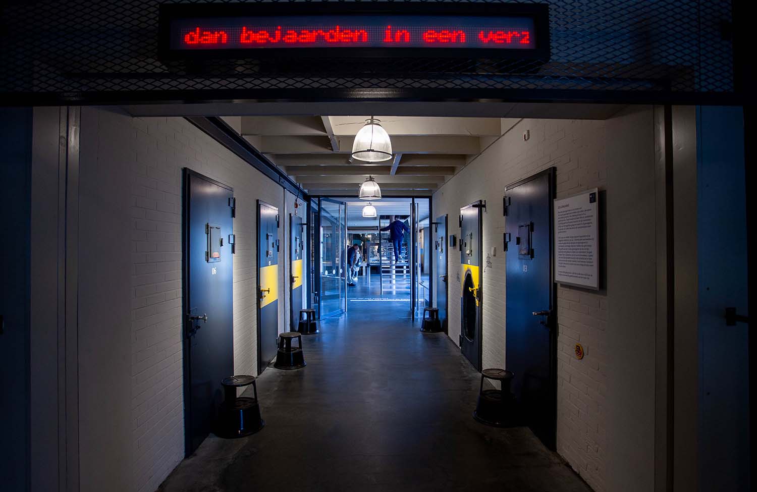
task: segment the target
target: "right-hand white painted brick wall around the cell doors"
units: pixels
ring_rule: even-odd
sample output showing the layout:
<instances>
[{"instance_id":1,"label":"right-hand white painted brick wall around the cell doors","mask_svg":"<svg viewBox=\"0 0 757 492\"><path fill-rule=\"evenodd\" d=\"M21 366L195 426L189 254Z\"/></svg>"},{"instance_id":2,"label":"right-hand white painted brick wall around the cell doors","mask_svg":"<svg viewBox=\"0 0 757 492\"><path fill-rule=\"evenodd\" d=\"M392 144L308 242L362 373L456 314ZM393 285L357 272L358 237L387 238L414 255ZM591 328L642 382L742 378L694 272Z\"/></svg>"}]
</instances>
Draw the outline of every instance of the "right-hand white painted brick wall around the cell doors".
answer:
<instances>
[{"instance_id":1,"label":"right-hand white painted brick wall around the cell doors","mask_svg":"<svg viewBox=\"0 0 757 492\"><path fill-rule=\"evenodd\" d=\"M530 139L523 140L523 133ZM483 214L483 366L506 367L505 254L502 235L505 186L556 167L557 198L587 188L606 189L606 133L597 120L521 120L434 194L434 215L447 213L450 234L459 238L460 207L487 201ZM491 254L495 248L495 254ZM449 255L449 335L459 341L459 252ZM606 291L558 290L557 450L594 488L605 490ZM572 357L575 342L583 360Z\"/></svg>"}]
</instances>

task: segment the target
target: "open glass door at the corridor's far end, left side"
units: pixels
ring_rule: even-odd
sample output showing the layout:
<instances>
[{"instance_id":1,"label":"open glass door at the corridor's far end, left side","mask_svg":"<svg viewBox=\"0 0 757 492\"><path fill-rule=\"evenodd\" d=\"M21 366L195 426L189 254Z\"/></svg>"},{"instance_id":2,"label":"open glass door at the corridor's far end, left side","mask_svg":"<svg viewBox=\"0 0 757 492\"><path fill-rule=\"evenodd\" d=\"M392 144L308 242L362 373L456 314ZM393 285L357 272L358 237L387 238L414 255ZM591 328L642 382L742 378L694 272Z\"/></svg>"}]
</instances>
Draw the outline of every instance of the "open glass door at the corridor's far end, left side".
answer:
<instances>
[{"instance_id":1,"label":"open glass door at the corridor's far end, left side","mask_svg":"<svg viewBox=\"0 0 757 492\"><path fill-rule=\"evenodd\" d=\"M321 318L347 310L347 204L319 200Z\"/></svg>"}]
</instances>

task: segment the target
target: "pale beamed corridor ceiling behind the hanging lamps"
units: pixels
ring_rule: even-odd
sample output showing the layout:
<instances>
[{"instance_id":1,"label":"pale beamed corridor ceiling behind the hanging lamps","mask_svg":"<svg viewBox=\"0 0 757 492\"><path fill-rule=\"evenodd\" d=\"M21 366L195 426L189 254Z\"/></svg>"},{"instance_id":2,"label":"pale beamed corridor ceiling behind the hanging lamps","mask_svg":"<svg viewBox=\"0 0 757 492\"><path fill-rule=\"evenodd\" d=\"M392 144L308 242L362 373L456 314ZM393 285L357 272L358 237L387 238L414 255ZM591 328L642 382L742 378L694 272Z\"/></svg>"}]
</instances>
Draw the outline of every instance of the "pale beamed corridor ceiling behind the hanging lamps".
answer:
<instances>
[{"instance_id":1,"label":"pale beamed corridor ceiling behind the hanging lamps","mask_svg":"<svg viewBox=\"0 0 757 492\"><path fill-rule=\"evenodd\" d=\"M518 122L517 118L378 117L394 157L350 159L369 116L237 117L238 131L310 195L357 195L373 176L382 194L431 195L467 161Z\"/></svg>"}]
</instances>

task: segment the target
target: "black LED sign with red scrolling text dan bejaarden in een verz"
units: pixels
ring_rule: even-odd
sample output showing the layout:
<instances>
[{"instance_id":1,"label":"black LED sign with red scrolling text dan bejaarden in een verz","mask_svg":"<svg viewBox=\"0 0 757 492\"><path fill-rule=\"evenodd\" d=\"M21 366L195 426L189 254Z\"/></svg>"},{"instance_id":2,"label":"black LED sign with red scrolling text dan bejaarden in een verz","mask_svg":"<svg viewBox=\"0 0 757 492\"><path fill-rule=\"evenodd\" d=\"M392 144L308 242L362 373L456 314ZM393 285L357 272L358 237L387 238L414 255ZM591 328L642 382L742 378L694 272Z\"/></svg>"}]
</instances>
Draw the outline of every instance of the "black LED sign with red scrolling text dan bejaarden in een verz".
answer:
<instances>
[{"instance_id":1,"label":"black LED sign with red scrolling text dan bejaarden in een verz","mask_svg":"<svg viewBox=\"0 0 757 492\"><path fill-rule=\"evenodd\" d=\"M549 55L546 5L162 5L160 30L166 58Z\"/></svg>"}]
</instances>

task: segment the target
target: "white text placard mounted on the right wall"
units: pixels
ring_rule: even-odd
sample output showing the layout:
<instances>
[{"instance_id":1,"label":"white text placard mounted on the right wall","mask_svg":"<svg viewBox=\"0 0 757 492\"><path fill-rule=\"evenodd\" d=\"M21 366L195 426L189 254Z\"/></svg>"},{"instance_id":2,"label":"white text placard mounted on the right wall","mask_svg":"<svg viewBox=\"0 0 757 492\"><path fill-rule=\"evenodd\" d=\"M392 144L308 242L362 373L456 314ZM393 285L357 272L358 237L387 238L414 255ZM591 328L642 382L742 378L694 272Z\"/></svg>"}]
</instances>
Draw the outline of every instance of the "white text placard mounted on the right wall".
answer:
<instances>
[{"instance_id":1,"label":"white text placard mounted on the right wall","mask_svg":"<svg viewBox=\"0 0 757 492\"><path fill-rule=\"evenodd\" d=\"M555 282L600 288L597 188L554 201Z\"/></svg>"}]
</instances>

